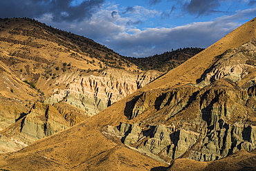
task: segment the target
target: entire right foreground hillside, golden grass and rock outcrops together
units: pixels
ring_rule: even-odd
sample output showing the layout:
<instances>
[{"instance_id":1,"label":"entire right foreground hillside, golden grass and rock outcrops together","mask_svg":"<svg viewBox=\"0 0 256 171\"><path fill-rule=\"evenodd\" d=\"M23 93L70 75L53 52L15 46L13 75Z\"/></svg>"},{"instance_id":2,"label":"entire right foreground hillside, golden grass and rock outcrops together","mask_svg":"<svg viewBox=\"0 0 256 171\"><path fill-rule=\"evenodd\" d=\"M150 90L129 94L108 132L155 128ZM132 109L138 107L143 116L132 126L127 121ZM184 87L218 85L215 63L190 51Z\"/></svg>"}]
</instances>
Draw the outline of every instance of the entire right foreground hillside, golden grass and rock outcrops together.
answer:
<instances>
[{"instance_id":1,"label":"entire right foreground hillside, golden grass and rock outcrops together","mask_svg":"<svg viewBox=\"0 0 256 171\"><path fill-rule=\"evenodd\" d=\"M7 170L255 170L256 19L102 110L19 152Z\"/></svg>"}]
</instances>

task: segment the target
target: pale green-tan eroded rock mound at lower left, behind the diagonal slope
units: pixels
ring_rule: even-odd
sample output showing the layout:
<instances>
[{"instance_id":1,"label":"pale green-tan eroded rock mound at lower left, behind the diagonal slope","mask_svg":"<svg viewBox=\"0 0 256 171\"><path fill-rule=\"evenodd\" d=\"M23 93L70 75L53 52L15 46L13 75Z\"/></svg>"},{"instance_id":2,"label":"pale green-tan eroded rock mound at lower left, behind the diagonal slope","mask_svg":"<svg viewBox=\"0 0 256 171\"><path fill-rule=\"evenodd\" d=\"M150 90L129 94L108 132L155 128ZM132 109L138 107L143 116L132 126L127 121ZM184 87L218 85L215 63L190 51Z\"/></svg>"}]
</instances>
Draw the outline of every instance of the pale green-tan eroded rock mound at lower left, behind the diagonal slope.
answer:
<instances>
[{"instance_id":1,"label":"pale green-tan eroded rock mound at lower left, behind the diagonal slope","mask_svg":"<svg viewBox=\"0 0 256 171\"><path fill-rule=\"evenodd\" d=\"M0 132L0 152L12 152L51 136L88 118L84 111L67 103L35 103L27 114Z\"/></svg>"}]
</instances>

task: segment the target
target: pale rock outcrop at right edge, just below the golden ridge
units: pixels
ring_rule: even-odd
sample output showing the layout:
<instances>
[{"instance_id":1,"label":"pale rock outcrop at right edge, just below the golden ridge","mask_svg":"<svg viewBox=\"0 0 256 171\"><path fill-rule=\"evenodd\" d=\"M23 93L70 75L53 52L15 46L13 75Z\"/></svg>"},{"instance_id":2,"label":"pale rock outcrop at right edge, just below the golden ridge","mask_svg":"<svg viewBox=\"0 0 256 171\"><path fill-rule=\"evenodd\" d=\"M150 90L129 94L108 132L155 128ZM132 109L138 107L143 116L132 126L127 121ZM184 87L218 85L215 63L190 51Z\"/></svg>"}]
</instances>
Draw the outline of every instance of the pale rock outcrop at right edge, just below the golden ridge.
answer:
<instances>
[{"instance_id":1,"label":"pale rock outcrop at right edge, just below the golden ridge","mask_svg":"<svg viewBox=\"0 0 256 171\"><path fill-rule=\"evenodd\" d=\"M239 82L246 77L250 70L255 69L256 40L253 39L235 49L228 49L223 54L217 56L214 65L205 70L205 73L199 79L199 84L209 85L211 82L221 78L230 79L233 82Z\"/></svg>"}]
</instances>

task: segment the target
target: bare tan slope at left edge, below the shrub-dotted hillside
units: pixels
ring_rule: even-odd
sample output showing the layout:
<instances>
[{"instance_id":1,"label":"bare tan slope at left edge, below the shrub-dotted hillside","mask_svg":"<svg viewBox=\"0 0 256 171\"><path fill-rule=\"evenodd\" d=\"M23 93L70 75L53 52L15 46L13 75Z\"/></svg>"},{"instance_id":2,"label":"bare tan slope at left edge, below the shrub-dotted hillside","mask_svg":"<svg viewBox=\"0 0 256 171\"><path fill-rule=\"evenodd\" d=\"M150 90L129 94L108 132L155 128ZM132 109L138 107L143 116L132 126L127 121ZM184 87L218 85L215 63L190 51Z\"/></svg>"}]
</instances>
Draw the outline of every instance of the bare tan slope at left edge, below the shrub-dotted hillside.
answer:
<instances>
[{"instance_id":1,"label":"bare tan slope at left edge, below the shrub-dotted hillside","mask_svg":"<svg viewBox=\"0 0 256 171\"><path fill-rule=\"evenodd\" d=\"M28 101L37 101L40 96L1 61L0 80L0 130L3 130L15 123L15 119L23 113L28 112Z\"/></svg>"}]
</instances>

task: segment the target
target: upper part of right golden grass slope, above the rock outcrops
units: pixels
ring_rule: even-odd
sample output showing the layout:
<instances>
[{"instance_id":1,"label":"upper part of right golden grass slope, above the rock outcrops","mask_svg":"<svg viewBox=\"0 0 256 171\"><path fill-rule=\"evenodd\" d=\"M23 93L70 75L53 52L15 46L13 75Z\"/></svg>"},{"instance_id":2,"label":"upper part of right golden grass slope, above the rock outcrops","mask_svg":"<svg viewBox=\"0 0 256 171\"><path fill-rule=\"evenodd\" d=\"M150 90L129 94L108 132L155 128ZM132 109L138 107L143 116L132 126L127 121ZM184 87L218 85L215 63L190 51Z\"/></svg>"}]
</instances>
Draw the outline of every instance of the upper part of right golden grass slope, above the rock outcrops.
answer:
<instances>
[{"instance_id":1,"label":"upper part of right golden grass slope, above the rock outcrops","mask_svg":"<svg viewBox=\"0 0 256 171\"><path fill-rule=\"evenodd\" d=\"M165 76L154 81L154 83L145 86L142 91L158 87L167 88L184 85L186 83L196 83L196 79L199 79L201 74L216 61L215 57L228 49L237 48L255 38L255 25L256 19L248 21L243 26L233 30L230 34L212 44L209 48L206 48L191 59L188 59L188 61L185 61L181 66L174 68L165 74Z\"/></svg>"}]
</instances>

